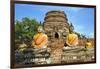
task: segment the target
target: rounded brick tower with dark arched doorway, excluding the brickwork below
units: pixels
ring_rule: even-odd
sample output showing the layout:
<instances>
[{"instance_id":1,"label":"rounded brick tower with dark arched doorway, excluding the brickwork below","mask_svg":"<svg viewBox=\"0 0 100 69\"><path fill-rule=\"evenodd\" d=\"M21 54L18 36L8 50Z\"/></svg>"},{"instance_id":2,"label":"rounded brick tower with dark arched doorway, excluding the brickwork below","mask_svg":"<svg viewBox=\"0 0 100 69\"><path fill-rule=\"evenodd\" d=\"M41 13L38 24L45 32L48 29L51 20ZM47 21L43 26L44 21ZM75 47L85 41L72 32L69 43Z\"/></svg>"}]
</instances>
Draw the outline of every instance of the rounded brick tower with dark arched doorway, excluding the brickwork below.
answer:
<instances>
[{"instance_id":1,"label":"rounded brick tower with dark arched doorway, excluding the brickwork below","mask_svg":"<svg viewBox=\"0 0 100 69\"><path fill-rule=\"evenodd\" d=\"M63 39L68 32L68 19L64 11L53 10L45 15L44 30L49 39Z\"/></svg>"}]
</instances>

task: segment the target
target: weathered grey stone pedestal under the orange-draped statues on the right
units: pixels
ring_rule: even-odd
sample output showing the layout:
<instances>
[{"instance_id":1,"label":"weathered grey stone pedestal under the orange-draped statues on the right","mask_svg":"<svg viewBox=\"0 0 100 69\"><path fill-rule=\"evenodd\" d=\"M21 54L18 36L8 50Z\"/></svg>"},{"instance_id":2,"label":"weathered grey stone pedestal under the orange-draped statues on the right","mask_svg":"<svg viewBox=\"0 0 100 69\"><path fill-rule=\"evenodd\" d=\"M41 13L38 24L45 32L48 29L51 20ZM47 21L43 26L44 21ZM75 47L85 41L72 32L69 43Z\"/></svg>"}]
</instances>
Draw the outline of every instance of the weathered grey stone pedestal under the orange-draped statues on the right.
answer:
<instances>
[{"instance_id":1,"label":"weathered grey stone pedestal under the orange-draped statues on the right","mask_svg":"<svg viewBox=\"0 0 100 69\"><path fill-rule=\"evenodd\" d=\"M94 61L94 49L82 47L66 48L63 50L62 63Z\"/></svg>"}]
</instances>

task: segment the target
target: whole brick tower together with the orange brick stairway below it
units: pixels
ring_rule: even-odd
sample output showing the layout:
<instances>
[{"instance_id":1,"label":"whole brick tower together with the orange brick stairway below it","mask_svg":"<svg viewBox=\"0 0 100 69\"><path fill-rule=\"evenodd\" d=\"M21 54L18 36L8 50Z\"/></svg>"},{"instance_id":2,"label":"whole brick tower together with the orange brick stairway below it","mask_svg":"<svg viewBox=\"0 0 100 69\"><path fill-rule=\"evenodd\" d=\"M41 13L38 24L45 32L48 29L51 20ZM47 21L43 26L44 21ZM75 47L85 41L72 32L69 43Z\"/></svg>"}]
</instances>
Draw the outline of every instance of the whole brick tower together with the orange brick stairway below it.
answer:
<instances>
[{"instance_id":1,"label":"whole brick tower together with the orange brick stairway below it","mask_svg":"<svg viewBox=\"0 0 100 69\"><path fill-rule=\"evenodd\" d=\"M65 37L67 35L69 23L64 11L49 11L45 15L44 30L49 37L50 43L48 46L51 48L52 63L62 62L62 48L64 47Z\"/></svg>"}]
</instances>

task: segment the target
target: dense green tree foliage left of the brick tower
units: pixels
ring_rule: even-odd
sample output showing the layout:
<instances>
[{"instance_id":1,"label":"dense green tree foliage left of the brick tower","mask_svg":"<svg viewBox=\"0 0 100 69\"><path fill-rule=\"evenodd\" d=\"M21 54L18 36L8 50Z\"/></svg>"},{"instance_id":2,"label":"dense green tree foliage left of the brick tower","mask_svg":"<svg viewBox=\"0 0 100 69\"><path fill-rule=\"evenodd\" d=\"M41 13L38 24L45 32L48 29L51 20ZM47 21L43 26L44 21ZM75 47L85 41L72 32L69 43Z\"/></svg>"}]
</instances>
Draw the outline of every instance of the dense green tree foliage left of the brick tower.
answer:
<instances>
[{"instance_id":1,"label":"dense green tree foliage left of the brick tower","mask_svg":"<svg viewBox=\"0 0 100 69\"><path fill-rule=\"evenodd\" d=\"M37 27L40 24L35 19L23 18L21 21L15 21L15 41L24 43L31 42L34 34L37 33Z\"/></svg>"}]
</instances>

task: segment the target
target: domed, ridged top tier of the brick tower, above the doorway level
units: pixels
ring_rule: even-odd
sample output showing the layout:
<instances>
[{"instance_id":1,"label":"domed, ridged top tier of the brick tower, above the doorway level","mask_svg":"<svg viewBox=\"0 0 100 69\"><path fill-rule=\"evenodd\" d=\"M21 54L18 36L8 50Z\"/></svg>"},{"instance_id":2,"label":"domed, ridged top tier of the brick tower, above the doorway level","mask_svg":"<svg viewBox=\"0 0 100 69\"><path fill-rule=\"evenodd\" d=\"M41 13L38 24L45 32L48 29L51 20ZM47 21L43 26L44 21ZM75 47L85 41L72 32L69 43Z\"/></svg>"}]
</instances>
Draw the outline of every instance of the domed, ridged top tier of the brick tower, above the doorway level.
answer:
<instances>
[{"instance_id":1,"label":"domed, ridged top tier of the brick tower, above the doorway level","mask_svg":"<svg viewBox=\"0 0 100 69\"><path fill-rule=\"evenodd\" d=\"M67 21L67 16L63 11L50 11L45 15L44 18L44 24L48 24L48 22L51 22L53 24L58 22L57 24L65 23L66 25L68 25Z\"/></svg>"}]
</instances>

